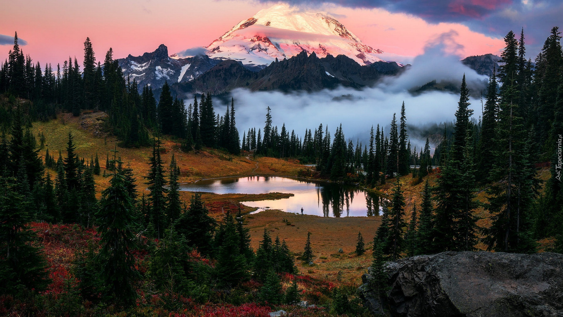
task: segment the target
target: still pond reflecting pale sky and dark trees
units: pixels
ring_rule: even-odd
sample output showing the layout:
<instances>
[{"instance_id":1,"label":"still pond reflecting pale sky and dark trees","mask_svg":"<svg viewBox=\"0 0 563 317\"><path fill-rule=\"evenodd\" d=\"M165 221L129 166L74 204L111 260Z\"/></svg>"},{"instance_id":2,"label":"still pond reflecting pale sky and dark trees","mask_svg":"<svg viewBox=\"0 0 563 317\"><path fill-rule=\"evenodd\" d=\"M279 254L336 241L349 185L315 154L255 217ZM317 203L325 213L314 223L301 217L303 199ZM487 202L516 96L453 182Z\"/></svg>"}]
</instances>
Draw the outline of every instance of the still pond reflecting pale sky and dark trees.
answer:
<instances>
[{"instance_id":1,"label":"still pond reflecting pale sky and dark trees","mask_svg":"<svg viewBox=\"0 0 563 317\"><path fill-rule=\"evenodd\" d=\"M199 180L181 184L180 190L213 193L293 193L278 200L244 201L257 211L280 209L284 212L320 215L323 217L371 216L381 212L382 197L363 188L345 184L278 177L249 176Z\"/></svg>"}]
</instances>

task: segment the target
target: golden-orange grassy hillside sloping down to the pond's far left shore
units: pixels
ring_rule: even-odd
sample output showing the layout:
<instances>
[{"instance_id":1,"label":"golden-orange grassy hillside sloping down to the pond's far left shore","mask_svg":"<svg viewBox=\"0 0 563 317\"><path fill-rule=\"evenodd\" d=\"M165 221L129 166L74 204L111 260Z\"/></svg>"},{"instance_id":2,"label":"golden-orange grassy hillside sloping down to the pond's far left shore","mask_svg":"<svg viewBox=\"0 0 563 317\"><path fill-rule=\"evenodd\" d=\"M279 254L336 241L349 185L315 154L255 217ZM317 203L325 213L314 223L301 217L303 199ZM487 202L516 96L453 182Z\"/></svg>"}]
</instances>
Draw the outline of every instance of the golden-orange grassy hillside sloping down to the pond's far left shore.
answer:
<instances>
[{"instance_id":1,"label":"golden-orange grassy hillside sloping down to the pond's far left shore","mask_svg":"<svg viewBox=\"0 0 563 317\"><path fill-rule=\"evenodd\" d=\"M91 156L98 154L102 170L105 168L106 155L111 155L111 150L116 148L118 140L115 137L97 137L88 131L86 125L82 127L84 120L81 117L73 117L71 114L64 113L59 115L56 120L49 122L35 122L33 132L35 135L43 133L46 138L46 147L40 151L40 155L45 155L45 150L49 148L50 155L55 159L62 152L65 156L68 134L73 134L75 151L79 157L90 160ZM195 182L203 178L229 177L238 175L283 175L296 176L298 170L303 168L296 161L280 160L278 158L261 157L256 161L251 157L231 156L228 153L217 149L204 149L199 153L184 153L180 151L180 143L164 138L162 140L162 160L168 165L172 153L175 154L176 161L180 167L180 182ZM146 175L149 165L149 156L152 154L151 147L142 148L120 148L117 146L118 156L125 165L130 165L135 175L137 175L137 185L140 190L145 189L146 185L142 177ZM258 165L258 166L257 166ZM53 174L53 173L51 173ZM108 186L107 179L96 177L97 190L101 191Z\"/></svg>"}]
</instances>

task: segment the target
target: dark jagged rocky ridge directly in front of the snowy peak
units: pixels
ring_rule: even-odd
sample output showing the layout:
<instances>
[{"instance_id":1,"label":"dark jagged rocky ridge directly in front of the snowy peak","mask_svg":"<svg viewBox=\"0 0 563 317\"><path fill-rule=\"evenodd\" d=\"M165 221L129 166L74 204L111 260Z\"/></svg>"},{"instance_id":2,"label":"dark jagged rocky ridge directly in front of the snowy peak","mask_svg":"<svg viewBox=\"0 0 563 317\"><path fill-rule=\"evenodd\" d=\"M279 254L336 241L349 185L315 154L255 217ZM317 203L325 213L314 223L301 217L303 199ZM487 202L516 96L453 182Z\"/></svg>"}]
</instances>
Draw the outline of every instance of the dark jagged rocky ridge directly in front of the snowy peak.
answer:
<instances>
[{"instance_id":1,"label":"dark jagged rocky ridge directly in front of the snowy peak","mask_svg":"<svg viewBox=\"0 0 563 317\"><path fill-rule=\"evenodd\" d=\"M338 85L360 88L404 69L395 62L361 66L344 55L318 58L315 53L307 56L303 51L290 59L275 60L260 72L252 72L234 60L222 61L193 81L175 84L173 89L178 94L222 94L240 87L253 91L315 91Z\"/></svg>"}]
</instances>

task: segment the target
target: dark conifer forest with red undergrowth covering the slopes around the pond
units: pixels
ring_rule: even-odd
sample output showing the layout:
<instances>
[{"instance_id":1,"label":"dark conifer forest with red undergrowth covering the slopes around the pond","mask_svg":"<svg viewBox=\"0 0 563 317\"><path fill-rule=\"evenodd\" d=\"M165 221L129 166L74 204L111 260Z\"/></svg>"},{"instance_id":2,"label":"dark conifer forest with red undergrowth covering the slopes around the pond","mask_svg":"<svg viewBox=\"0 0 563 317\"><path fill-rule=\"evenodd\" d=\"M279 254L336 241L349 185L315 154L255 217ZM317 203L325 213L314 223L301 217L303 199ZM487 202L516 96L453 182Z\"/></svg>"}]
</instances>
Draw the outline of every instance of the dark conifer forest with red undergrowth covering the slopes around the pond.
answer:
<instances>
[{"instance_id":1,"label":"dark conifer forest with red undergrowth covering the slopes around the pond","mask_svg":"<svg viewBox=\"0 0 563 317\"><path fill-rule=\"evenodd\" d=\"M483 92L482 117L470 103L480 92L470 91L463 76L454 124L445 125L434 149L429 139L417 149L409 140L408 108L414 105L397 105L389 131L387 122L374 122L367 144L346 139L342 125L331 131L319 124L302 135L285 124L278 128L270 107L265 125L241 136L233 99L221 115L211 94L185 102L164 83L157 100L150 86L124 78L112 49L103 62L97 59L89 38L82 63L69 58L41 65L24 55L16 33L0 68L0 314L267 316L273 307L291 309L306 300L322 308L298 314L368 316L354 287L311 278L313 266L307 274L298 270L315 259L311 242L321 239L315 232L303 235L300 249L290 249L289 237L263 227L253 248L253 216L239 202L212 217L201 194L182 199L177 155L209 149L298 160L315 164L315 170L300 170L301 177L390 188L377 231L366 240L366 231L349 237L357 242L350 258L368 254L381 281L383 263L419 254L561 253L560 40L555 27L532 59L524 30L509 32ZM34 124L61 113L98 112L107 115L104 130L119 147L79 157L81 144L69 131L65 151L42 155L45 140L33 133ZM161 157L166 140L180 144L169 161ZM150 151L146 173L122 160L124 148ZM103 186L96 183L102 175ZM418 204L406 210L404 188L417 185L423 188ZM488 214L487 226L477 209ZM66 232L66 244L83 243L64 279L44 252L53 230Z\"/></svg>"}]
</instances>

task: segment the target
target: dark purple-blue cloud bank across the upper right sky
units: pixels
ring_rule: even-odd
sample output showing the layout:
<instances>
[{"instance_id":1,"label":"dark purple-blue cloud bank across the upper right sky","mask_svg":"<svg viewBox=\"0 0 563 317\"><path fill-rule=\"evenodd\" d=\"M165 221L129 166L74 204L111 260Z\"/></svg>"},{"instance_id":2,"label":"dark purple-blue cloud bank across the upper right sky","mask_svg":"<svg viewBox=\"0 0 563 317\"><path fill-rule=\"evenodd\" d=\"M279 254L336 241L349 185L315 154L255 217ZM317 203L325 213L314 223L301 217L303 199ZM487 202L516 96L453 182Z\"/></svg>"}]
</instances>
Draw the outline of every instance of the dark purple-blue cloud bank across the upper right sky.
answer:
<instances>
[{"instance_id":1,"label":"dark purple-blue cloud bank across the upper right sky","mask_svg":"<svg viewBox=\"0 0 563 317\"><path fill-rule=\"evenodd\" d=\"M270 0L257 0L271 3ZM467 25L475 32L502 38L523 27L528 56L534 59L552 27L563 28L561 0L287 0L291 5L321 8L326 3L351 8L383 8L430 22Z\"/></svg>"}]
</instances>

